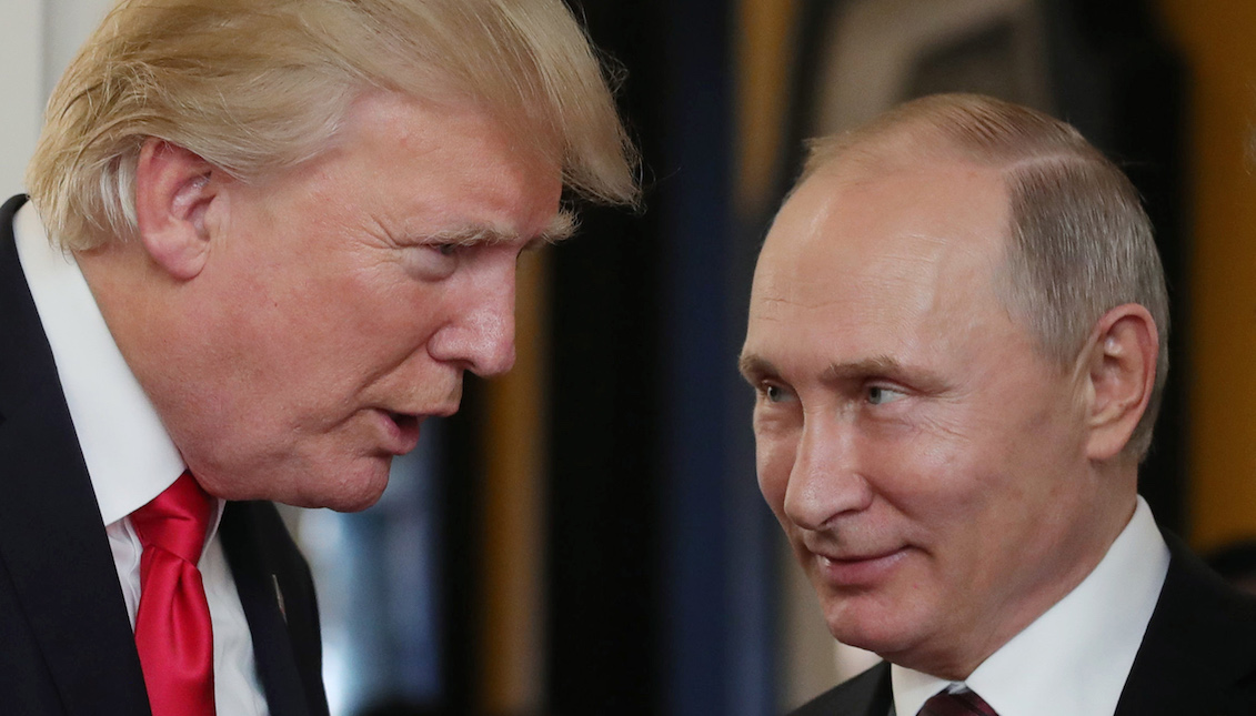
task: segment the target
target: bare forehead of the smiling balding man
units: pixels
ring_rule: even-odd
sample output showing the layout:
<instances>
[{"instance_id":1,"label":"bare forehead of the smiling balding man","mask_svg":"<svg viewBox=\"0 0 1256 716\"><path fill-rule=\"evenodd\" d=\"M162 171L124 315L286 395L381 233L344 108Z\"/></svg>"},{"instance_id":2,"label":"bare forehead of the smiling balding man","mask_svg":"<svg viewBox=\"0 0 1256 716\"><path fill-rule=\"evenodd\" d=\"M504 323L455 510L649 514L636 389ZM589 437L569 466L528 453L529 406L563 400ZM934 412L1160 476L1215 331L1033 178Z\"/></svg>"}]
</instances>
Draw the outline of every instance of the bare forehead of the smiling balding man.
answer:
<instances>
[{"instance_id":1,"label":"bare forehead of the smiling balding man","mask_svg":"<svg viewBox=\"0 0 1256 716\"><path fill-rule=\"evenodd\" d=\"M987 167L821 171L764 244L747 349L789 345L772 335L784 329L790 342L840 332L872 355L896 355L1005 319L991 279L1007 226L1004 182Z\"/></svg>"}]
</instances>

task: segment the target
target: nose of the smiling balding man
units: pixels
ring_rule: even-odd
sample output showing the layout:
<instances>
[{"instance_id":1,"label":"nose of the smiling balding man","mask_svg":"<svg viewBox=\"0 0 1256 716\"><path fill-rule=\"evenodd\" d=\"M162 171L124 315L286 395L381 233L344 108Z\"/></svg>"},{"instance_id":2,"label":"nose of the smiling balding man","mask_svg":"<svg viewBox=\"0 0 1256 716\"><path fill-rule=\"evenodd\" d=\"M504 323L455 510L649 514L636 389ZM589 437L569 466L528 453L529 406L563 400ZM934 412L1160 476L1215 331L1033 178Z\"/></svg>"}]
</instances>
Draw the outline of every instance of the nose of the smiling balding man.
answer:
<instances>
[{"instance_id":1,"label":"nose of the smiling balding man","mask_svg":"<svg viewBox=\"0 0 1256 716\"><path fill-rule=\"evenodd\" d=\"M855 428L839 418L805 421L785 487L790 521L821 530L834 518L872 504L872 486L858 467L858 442Z\"/></svg>"}]
</instances>

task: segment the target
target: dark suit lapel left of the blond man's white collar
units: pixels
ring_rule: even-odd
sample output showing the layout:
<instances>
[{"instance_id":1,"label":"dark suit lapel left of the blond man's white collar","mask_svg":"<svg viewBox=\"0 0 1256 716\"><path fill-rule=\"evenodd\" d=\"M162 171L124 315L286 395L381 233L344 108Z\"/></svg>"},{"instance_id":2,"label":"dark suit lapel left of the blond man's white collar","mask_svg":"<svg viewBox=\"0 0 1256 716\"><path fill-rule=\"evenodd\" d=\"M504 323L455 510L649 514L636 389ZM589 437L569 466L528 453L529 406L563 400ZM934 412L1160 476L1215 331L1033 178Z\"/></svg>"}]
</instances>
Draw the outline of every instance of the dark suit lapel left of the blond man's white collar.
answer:
<instances>
[{"instance_id":1,"label":"dark suit lapel left of the blond man's white collar","mask_svg":"<svg viewBox=\"0 0 1256 716\"><path fill-rule=\"evenodd\" d=\"M126 603L51 349L0 209L0 558L67 712L147 713Z\"/></svg>"}]
</instances>

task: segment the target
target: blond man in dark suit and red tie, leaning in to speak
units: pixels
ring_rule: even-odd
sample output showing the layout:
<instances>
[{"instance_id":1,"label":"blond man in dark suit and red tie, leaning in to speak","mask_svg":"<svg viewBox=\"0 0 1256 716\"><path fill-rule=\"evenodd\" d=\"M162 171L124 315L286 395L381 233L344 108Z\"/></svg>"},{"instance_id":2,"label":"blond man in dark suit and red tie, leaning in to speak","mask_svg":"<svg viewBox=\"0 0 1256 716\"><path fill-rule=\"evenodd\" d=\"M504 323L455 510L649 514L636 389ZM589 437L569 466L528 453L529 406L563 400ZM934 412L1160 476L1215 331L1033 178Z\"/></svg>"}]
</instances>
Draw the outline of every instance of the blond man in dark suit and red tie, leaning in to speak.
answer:
<instances>
[{"instance_id":1,"label":"blond man in dark suit and red tie, leaning in to speak","mask_svg":"<svg viewBox=\"0 0 1256 716\"><path fill-rule=\"evenodd\" d=\"M121 0L0 210L0 711L327 713L359 510L634 153L560 0Z\"/></svg>"}]
</instances>

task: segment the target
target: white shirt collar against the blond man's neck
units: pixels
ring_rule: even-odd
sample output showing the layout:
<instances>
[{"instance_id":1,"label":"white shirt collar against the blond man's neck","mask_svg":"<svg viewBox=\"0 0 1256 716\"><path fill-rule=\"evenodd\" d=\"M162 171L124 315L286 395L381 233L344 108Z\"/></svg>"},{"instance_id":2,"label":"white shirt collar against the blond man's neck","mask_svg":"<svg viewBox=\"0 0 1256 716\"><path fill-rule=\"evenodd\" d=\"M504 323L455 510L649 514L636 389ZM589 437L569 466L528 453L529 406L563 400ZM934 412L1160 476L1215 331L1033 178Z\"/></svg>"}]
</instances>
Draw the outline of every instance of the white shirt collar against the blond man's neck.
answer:
<instances>
[{"instance_id":1,"label":"white shirt collar against the blond man's neck","mask_svg":"<svg viewBox=\"0 0 1256 716\"><path fill-rule=\"evenodd\" d=\"M18 211L14 234L100 518L108 525L148 504L186 466L113 342L78 264L49 241L29 202Z\"/></svg>"}]
</instances>

